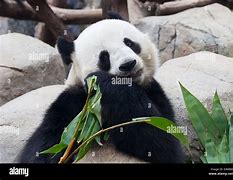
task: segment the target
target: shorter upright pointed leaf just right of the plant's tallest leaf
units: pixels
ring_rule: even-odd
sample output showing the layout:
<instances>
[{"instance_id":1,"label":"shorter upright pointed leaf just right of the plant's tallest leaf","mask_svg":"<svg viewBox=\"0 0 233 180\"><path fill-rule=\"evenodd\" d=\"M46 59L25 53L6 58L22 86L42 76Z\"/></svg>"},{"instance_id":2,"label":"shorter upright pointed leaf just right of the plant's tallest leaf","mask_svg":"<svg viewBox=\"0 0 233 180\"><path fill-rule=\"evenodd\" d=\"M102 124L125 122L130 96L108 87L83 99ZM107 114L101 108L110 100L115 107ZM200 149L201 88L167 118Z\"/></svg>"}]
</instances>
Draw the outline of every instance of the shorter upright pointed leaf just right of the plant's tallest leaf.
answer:
<instances>
[{"instance_id":1,"label":"shorter upright pointed leaf just right of the plant's tallest leaf","mask_svg":"<svg viewBox=\"0 0 233 180\"><path fill-rule=\"evenodd\" d=\"M214 120L214 124L216 124L216 126L219 128L220 138L222 138L226 131L228 133L228 120L220 103L220 99L218 97L217 91L215 92L213 98L213 107L212 107L211 116Z\"/></svg>"}]
</instances>

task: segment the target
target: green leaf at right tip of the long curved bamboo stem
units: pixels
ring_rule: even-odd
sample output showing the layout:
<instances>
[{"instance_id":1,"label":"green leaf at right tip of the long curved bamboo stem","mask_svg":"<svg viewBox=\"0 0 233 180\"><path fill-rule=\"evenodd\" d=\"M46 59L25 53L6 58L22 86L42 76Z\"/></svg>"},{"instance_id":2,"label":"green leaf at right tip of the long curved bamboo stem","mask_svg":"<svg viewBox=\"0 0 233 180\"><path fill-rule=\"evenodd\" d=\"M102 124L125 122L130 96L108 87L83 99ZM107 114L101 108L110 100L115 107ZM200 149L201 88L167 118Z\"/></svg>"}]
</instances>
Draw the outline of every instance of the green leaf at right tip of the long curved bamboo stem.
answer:
<instances>
[{"instance_id":1,"label":"green leaf at right tip of the long curved bamboo stem","mask_svg":"<svg viewBox=\"0 0 233 180\"><path fill-rule=\"evenodd\" d=\"M172 134L174 137L176 137L183 145L188 147L188 138L187 136L182 132L180 127L176 126L176 124L166 118L163 117L146 117L146 118L134 118L133 121L137 120L149 120L146 121L146 123L153 125L167 133ZM172 130L173 129L173 130ZM175 130L175 131L174 131Z\"/></svg>"}]
</instances>

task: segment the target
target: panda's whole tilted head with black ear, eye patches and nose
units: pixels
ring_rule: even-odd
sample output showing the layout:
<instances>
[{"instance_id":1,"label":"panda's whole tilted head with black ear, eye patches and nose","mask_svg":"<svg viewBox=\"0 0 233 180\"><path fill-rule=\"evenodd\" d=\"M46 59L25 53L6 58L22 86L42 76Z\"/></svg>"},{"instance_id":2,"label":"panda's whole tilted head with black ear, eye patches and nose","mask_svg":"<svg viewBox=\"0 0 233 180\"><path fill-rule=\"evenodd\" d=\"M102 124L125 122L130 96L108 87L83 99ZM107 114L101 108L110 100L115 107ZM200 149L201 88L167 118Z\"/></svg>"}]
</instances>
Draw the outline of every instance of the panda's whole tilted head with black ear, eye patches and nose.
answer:
<instances>
[{"instance_id":1,"label":"panda's whole tilted head with black ear, eye patches and nose","mask_svg":"<svg viewBox=\"0 0 233 180\"><path fill-rule=\"evenodd\" d=\"M65 63L72 62L69 85L83 83L89 73L98 70L146 84L159 65L157 49L148 36L117 19L90 25L74 42L60 39L58 50Z\"/></svg>"}]
</instances>

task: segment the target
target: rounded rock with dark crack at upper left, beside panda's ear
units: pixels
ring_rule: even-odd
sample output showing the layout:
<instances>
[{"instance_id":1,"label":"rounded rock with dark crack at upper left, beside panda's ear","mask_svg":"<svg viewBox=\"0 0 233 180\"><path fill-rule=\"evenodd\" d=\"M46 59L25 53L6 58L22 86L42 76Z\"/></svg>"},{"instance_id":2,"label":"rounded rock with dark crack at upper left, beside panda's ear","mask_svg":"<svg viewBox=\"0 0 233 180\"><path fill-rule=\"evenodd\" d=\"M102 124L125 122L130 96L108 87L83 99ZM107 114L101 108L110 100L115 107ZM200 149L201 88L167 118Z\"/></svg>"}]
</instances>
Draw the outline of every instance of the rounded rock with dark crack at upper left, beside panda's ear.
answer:
<instances>
[{"instance_id":1,"label":"rounded rock with dark crack at upper left, beside panda's ear","mask_svg":"<svg viewBox=\"0 0 233 180\"><path fill-rule=\"evenodd\" d=\"M62 84L64 67L57 50L22 34L0 35L0 105L33 89Z\"/></svg>"}]
</instances>

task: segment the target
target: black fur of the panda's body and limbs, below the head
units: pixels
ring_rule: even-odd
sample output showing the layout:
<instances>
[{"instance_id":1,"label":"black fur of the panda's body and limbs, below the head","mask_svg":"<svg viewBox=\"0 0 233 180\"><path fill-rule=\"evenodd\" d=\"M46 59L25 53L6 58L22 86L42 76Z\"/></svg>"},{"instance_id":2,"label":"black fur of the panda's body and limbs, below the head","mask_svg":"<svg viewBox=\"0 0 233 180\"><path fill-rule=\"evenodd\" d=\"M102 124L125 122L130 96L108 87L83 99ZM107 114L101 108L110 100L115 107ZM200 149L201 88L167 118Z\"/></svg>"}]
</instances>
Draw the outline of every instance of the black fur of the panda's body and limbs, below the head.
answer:
<instances>
[{"instance_id":1,"label":"black fur of the panda's body and limbs, below the head","mask_svg":"<svg viewBox=\"0 0 233 180\"><path fill-rule=\"evenodd\" d=\"M91 75L97 76L103 94L101 115L104 128L136 117L163 116L174 120L170 102L154 79L149 85L142 87L136 83L132 86L113 85L112 78L115 77L102 71ZM59 155L51 159L42 155L36 157L36 152L59 142L64 127L80 112L85 98L82 87L64 91L51 105L44 122L30 138L20 162L58 162ZM183 162L179 142L170 134L148 124L128 125L123 127L123 132L119 129L112 130L109 140L118 150L148 162Z\"/></svg>"}]
</instances>

